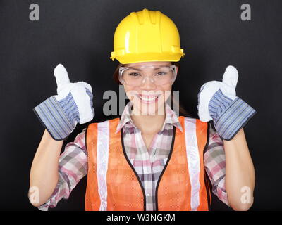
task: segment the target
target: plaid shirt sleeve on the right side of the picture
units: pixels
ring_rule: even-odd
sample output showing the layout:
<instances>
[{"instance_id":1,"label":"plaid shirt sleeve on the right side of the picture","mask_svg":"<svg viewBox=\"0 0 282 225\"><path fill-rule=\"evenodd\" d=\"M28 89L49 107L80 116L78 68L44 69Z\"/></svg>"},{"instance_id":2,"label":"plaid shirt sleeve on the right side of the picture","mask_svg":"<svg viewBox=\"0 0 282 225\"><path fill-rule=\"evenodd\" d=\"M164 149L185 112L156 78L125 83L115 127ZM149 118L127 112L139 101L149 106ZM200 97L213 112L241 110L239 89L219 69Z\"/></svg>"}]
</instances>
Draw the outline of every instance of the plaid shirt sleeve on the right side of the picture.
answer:
<instances>
[{"instance_id":1,"label":"plaid shirt sleeve on the right side of the picture","mask_svg":"<svg viewBox=\"0 0 282 225\"><path fill-rule=\"evenodd\" d=\"M225 188L226 158L223 140L212 123L209 124L209 146L204 153L204 167L212 183L212 192L219 200L230 206Z\"/></svg>"}]
</instances>

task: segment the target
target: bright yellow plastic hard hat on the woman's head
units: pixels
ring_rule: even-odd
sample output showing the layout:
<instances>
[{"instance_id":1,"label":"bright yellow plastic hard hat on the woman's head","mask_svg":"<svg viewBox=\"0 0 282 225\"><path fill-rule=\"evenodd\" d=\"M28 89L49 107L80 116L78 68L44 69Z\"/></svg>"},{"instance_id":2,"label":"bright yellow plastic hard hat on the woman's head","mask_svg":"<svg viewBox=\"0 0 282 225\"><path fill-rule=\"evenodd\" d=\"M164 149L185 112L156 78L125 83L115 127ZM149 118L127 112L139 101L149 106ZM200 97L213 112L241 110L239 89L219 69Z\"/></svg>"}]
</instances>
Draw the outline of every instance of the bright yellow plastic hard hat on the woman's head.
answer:
<instances>
[{"instance_id":1,"label":"bright yellow plastic hard hat on the woman's head","mask_svg":"<svg viewBox=\"0 0 282 225\"><path fill-rule=\"evenodd\" d=\"M160 11L132 12L116 27L114 51L111 60L120 63L149 61L178 62L184 57L180 49L178 29L173 21Z\"/></svg>"}]
</instances>

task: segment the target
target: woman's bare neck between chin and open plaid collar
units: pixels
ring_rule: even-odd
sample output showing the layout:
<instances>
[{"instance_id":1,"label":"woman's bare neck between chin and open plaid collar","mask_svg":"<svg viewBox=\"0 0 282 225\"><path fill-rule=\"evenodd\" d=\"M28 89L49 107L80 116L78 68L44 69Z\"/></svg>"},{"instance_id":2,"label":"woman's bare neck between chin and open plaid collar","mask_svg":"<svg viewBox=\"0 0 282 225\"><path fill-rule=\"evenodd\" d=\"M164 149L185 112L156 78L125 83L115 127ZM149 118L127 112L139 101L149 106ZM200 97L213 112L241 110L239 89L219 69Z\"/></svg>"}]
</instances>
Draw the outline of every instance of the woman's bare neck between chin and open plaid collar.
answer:
<instances>
[{"instance_id":1,"label":"woman's bare neck between chin and open plaid collar","mask_svg":"<svg viewBox=\"0 0 282 225\"><path fill-rule=\"evenodd\" d=\"M160 115L158 113L155 113L155 115L142 115L141 113L136 115L133 107L133 114L130 117L142 134L155 134L161 130L166 119L165 104L161 110L163 111Z\"/></svg>"}]
</instances>

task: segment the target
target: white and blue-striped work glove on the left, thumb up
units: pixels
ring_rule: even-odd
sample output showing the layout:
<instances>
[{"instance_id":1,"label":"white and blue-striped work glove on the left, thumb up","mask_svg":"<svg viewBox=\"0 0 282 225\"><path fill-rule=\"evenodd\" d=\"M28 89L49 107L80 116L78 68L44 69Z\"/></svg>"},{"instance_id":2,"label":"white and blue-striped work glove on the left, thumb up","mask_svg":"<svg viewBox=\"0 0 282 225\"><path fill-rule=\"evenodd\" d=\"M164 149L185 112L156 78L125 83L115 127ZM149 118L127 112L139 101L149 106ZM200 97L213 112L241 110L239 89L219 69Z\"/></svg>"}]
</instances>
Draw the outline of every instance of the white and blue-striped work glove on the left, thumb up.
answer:
<instances>
[{"instance_id":1,"label":"white and blue-striped work glove on the left, thumb up","mask_svg":"<svg viewBox=\"0 0 282 225\"><path fill-rule=\"evenodd\" d=\"M86 82L71 83L68 72L59 64L54 69L57 94L47 98L33 111L57 141L66 139L76 124L84 124L94 117L92 87Z\"/></svg>"}]
</instances>

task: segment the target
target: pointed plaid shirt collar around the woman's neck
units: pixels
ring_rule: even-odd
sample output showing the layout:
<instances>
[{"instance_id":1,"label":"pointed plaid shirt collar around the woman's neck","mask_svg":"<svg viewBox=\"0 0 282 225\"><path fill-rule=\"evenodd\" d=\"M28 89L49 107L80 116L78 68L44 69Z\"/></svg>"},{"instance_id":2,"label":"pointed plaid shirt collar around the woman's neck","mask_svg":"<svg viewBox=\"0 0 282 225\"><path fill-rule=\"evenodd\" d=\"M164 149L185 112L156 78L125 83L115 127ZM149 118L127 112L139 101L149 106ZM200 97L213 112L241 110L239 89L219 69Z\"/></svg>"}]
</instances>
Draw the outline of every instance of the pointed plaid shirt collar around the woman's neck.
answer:
<instances>
[{"instance_id":1,"label":"pointed plaid shirt collar around the woman's neck","mask_svg":"<svg viewBox=\"0 0 282 225\"><path fill-rule=\"evenodd\" d=\"M133 123L133 120L130 117L130 113L132 110L132 102L129 101L128 104L125 106L125 109L123 110L123 114L121 115L121 120L118 122L118 126L116 127L116 133L120 131L125 124L129 124L133 127L136 127ZM163 127L161 127L161 131L164 129L166 124L173 124L176 128L180 129L181 132L183 132L183 128L178 120L178 116L176 115L176 112L171 109L171 107L166 103L166 119L164 121ZM137 128L137 127L136 127Z\"/></svg>"}]
</instances>

